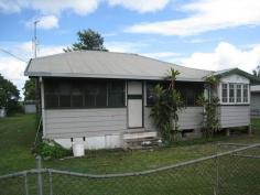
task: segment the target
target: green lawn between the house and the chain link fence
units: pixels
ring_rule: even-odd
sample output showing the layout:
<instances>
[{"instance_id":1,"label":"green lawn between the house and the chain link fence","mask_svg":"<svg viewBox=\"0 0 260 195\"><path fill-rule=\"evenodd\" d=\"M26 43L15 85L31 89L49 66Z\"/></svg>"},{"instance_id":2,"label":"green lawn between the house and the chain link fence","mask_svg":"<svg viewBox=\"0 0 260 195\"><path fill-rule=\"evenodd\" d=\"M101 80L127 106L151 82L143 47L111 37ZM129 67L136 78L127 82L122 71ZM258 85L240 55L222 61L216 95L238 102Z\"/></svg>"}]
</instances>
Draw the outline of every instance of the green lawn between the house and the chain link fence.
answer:
<instances>
[{"instance_id":1,"label":"green lawn between the house and the chain link fence","mask_svg":"<svg viewBox=\"0 0 260 195\"><path fill-rule=\"evenodd\" d=\"M152 151L126 152L122 150L87 151L80 159L43 162L44 167L84 173L119 173L149 170L170 165L216 152L216 142L260 142L260 119L253 119L254 136L218 137L210 142L204 139L177 142L172 148ZM21 115L0 119L0 174L35 167L31 148L35 137L35 117Z\"/></svg>"}]
</instances>

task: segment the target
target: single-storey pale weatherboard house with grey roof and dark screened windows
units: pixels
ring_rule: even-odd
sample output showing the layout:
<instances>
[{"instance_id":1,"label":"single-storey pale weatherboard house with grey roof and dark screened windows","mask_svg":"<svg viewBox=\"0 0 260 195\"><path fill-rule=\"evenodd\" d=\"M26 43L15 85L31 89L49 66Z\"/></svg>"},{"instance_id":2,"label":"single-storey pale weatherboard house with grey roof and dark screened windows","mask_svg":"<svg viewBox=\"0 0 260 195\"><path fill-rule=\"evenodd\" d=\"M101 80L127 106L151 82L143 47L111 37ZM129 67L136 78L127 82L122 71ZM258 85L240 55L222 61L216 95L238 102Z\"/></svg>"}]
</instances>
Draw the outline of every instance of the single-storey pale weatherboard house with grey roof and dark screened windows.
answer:
<instances>
[{"instance_id":1,"label":"single-storey pale weatherboard house with grey roof and dark screened windows","mask_svg":"<svg viewBox=\"0 0 260 195\"><path fill-rule=\"evenodd\" d=\"M205 77L220 78L223 128L250 126L251 75L240 69L209 72L188 68L137 54L78 51L31 59L25 76L41 86L43 137L69 148L84 141L86 149L120 148L129 138L156 136L150 118L151 89L173 67L181 74L176 88L186 108L180 113L183 137L199 136Z\"/></svg>"}]
</instances>

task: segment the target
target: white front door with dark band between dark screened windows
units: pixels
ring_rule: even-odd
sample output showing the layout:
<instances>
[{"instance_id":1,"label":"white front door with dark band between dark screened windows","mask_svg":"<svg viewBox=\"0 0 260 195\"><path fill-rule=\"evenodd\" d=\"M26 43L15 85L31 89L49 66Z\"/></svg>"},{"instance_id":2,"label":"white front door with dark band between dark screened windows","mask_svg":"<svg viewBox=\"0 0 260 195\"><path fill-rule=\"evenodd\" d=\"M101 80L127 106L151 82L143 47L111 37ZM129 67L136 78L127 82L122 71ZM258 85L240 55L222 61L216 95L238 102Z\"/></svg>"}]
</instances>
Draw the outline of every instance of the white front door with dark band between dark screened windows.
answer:
<instances>
[{"instance_id":1,"label":"white front door with dark band between dark screened windows","mask_svg":"<svg viewBox=\"0 0 260 195\"><path fill-rule=\"evenodd\" d=\"M142 82L128 82L128 127L143 127Z\"/></svg>"}]
</instances>

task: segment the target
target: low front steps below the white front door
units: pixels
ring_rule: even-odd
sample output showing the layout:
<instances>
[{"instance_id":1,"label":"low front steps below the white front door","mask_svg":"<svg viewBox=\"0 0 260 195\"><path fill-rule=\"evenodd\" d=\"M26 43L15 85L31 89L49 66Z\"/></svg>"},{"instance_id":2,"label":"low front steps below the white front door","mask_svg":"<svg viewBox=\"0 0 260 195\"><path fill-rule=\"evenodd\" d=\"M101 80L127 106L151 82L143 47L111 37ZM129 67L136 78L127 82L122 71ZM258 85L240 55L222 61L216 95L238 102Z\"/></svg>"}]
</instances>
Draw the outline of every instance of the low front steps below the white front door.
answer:
<instances>
[{"instance_id":1,"label":"low front steps below the white front door","mask_svg":"<svg viewBox=\"0 0 260 195\"><path fill-rule=\"evenodd\" d=\"M161 140L158 138L158 132L145 131L140 129L136 132L128 132L123 134L124 149L151 149L161 144Z\"/></svg>"}]
</instances>

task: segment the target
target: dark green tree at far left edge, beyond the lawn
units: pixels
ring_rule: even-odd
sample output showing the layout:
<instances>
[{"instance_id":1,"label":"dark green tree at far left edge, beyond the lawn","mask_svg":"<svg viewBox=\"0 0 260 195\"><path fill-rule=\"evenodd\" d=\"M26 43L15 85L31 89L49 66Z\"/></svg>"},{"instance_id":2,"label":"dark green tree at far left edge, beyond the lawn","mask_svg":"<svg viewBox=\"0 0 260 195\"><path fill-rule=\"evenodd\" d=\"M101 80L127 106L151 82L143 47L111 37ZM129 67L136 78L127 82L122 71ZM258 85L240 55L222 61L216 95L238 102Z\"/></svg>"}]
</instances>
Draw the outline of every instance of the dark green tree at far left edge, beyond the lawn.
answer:
<instances>
[{"instance_id":1,"label":"dark green tree at far left edge, beyond the lawn","mask_svg":"<svg viewBox=\"0 0 260 195\"><path fill-rule=\"evenodd\" d=\"M8 115L20 111L18 100L19 90L17 86L0 74L0 107L4 107Z\"/></svg>"}]
</instances>

